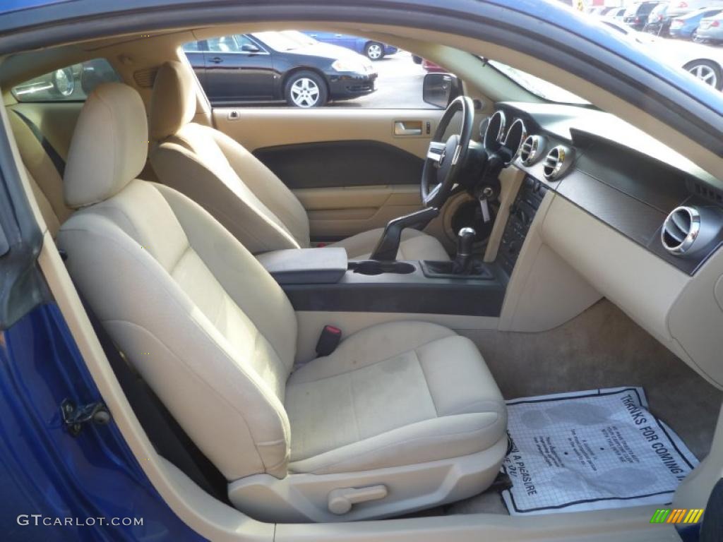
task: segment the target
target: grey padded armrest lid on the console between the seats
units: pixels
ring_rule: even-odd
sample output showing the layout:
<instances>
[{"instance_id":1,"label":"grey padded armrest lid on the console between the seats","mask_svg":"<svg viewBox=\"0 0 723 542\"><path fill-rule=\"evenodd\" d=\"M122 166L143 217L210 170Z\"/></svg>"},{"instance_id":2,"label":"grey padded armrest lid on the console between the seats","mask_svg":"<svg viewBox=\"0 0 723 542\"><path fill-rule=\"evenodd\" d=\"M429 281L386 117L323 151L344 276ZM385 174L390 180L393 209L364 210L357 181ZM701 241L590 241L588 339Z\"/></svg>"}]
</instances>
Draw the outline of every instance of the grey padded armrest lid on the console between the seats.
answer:
<instances>
[{"instance_id":1,"label":"grey padded armrest lid on the console between the seats","mask_svg":"<svg viewBox=\"0 0 723 542\"><path fill-rule=\"evenodd\" d=\"M259 262L279 284L333 284L346 273L346 249L288 249L265 252Z\"/></svg>"}]
</instances>

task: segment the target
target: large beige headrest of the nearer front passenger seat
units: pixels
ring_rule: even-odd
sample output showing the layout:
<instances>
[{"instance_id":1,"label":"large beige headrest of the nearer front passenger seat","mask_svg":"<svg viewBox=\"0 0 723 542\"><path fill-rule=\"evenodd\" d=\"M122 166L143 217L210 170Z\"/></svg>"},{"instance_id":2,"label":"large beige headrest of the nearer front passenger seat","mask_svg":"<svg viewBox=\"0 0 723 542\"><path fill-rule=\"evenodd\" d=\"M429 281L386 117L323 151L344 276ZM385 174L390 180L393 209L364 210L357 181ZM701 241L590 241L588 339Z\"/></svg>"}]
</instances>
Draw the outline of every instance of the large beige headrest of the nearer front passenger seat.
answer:
<instances>
[{"instance_id":1,"label":"large beige headrest of the nearer front passenger seat","mask_svg":"<svg viewBox=\"0 0 723 542\"><path fill-rule=\"evenodd\" d=\"M118 194L145 167L148 123L140 95L122 83L98 85L80 111L65 166L68 207Z\"/></svg>"}]
</instances>

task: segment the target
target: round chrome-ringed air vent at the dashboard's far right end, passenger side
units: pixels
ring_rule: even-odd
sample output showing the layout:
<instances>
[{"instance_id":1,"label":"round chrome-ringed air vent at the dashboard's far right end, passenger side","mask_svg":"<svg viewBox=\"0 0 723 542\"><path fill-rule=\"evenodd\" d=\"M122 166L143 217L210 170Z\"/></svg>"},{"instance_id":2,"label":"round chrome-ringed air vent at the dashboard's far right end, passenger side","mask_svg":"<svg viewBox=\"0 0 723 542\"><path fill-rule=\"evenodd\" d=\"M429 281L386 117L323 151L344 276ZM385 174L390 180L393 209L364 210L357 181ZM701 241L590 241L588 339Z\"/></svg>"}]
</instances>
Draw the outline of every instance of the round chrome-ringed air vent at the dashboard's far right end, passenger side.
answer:
<instances>
[{"instance_id":1,"label":"round chrome-ringed air vent at the dashboard's far right end, passenger side","mask_svg":"<svg viewBox=\"0 0 723 542\"><path fill-rule=\"evenodd\" d=\"M722 226L722 213L717 209L677 207L665 219L660 240L670 254L685 256L708 246Z\"/></svg>"}]
</instances>

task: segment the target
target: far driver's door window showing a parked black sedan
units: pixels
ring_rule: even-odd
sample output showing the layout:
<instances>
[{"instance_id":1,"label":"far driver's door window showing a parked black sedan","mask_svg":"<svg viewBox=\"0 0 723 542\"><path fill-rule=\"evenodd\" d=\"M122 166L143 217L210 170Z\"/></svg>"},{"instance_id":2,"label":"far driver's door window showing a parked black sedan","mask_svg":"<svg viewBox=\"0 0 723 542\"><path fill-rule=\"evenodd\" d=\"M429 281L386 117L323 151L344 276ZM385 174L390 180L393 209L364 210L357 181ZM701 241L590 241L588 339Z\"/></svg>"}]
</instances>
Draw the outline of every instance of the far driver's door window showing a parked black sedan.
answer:
<instances>
[{"instance_id":1,"label":"far driver's door window showing a parked black sedan","mask_svg":"<svg viewBox=\"0 0 723 542\"><path fill-rule=\"evenodd\" d=\"M210 38L200 50L211 54L189 54L189 63L211 105L224 108L437 109L423 99L424 77L447 72L390 43L314 29Z\"/></svg>"}]
</instances>

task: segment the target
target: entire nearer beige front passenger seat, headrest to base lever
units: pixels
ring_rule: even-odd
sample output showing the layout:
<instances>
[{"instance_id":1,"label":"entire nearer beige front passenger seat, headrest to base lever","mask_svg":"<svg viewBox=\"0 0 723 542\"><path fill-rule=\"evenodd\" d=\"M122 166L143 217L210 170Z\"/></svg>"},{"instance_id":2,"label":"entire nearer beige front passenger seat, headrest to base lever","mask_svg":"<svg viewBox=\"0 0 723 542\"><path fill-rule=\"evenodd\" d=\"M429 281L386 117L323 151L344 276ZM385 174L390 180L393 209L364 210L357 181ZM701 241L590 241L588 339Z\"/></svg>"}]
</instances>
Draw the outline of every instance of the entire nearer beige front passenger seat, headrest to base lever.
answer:
<instances>
[{"instance_id":1,"label":"entire nearer beige front passenger seat, headrest to base lever","mask_svg":"<svg viewBox=\"0 0 723 542\"><path fill-rule=\"evenodd\" d=\"M146 139L134 90L90 95L64 178L77 211L59 245L116 345L226 476L231 502L261 520L330 521L486 489L506 412L474 344L435 324L380 324L292 373L286 295L200 205L135 178Z\"/></svg>"}]
</instances>

